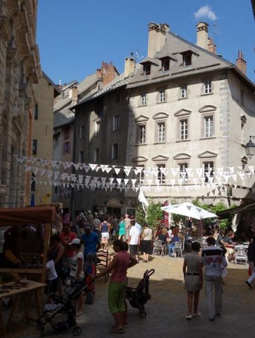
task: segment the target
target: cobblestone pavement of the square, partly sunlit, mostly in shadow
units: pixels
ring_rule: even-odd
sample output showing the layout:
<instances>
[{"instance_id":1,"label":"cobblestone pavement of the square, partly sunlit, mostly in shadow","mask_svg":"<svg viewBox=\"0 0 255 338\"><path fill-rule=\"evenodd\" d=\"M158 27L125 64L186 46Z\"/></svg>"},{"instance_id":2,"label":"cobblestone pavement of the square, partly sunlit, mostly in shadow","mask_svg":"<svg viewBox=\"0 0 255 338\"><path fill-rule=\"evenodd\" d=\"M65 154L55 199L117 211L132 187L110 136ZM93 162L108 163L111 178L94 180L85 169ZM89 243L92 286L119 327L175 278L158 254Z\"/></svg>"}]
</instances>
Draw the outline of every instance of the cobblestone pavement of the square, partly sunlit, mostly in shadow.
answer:
<instances>
[{"instance_id":1,"label":"cobblestone pavement of the square, partly sunlit, mostly in shadow","mask_svg":"<svg viewBox=\"0 0 255 338\"><path fill-rule=\"evenodd\" d=\"M247 268L243 265L230 264L223 286L223 312L221 317L209 321L205 306L204 292L201 292L199 310L201 317L191 321L185 319L187 314L187 294L184 290L183 259L172 257L151 257L147 264L141 262L128 271L129 285L136 286L146 269L154 268L150 279L152 299L145 305L147 317L141 319L136 309L128 308L128 326L124 337L254 337L255 290L245 284ZM83 315L78 318L82 328L81 337L112 337L113 324L107 305L108 284L96 281L96 298L92 306L85 304ZM39 337L33 333L28 338ZM60 337L50 326L45 329L45 337ZM72 332L65 331L61 337L72 337Z\"/></svg>"}]
</instances>

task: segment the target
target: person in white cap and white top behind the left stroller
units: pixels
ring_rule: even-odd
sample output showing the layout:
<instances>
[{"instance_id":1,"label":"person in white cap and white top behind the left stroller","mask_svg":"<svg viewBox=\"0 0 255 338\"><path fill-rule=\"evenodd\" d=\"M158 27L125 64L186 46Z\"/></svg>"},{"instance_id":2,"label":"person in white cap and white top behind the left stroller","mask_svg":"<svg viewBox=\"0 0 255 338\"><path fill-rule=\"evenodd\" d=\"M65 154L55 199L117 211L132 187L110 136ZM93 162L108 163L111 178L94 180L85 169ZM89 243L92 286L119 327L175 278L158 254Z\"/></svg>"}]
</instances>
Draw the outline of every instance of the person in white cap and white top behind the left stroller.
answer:
<instances>
[{"instance_id":1,"label":"person in white cap and white top behind the left stroller","mask_svg":"<svg viewBox=\"0 0 255 338\"><path fill-rule=\"evenodd\" d=\"M74 280L79 280L83 278L83 266L84 266L84 257L83 253L80 251L81 249L81 239L74 238L69 244L72 246L72 249L75 252L74 257L72 257L72 267L70 272L70 277ZM76 317L82 314L82 306L83 306L83 296L81 296L76 302Z\"/></svg>"}]
</instances>

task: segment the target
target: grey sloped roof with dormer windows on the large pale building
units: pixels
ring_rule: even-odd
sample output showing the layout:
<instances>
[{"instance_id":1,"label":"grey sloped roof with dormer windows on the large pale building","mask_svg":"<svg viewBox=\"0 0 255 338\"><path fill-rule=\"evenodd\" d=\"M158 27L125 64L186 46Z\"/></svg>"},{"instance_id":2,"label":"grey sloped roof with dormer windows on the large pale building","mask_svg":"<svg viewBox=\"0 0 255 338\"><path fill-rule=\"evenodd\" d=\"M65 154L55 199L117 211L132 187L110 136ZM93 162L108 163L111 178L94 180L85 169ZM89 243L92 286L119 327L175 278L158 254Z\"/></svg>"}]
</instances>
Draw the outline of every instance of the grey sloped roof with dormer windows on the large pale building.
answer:
<instances>
[{"instance_id":1,"label":"grey sloped roof with dormer windows on the large pale building","mask_svg":"<svg viewBox=\"0 0 255 338\"><path fill-rule=\"evenodd\" d=\"M183 55L181 53L189 50L194 53L195 57L192 59L192 65L183 66ZM223 68L233 68L239 75L241 75L232 62L227 61L223 57L213 54L204 48L196 46L194 43L179 37L173 32L167 32L166 42L163 48L161 48L161 50L155 54L152 61L154 60L154 63L159 63L159 58L162 56L165 57L167 55L173 59L172 63L170 64L170 70L163 72L161 70L161 65L153 67L151 74L146 76L146 85L154 82L166 81L187 75L199 74ZM243 78L249 81L249 79L245 77L244 74ZM144 86L144 83L142 82L143 79L144 75L141 72L137 72L127 87L134 88L138 86ZM251 81L249 81L249 83L250 82Z\"/></svg>"}]
</instances>

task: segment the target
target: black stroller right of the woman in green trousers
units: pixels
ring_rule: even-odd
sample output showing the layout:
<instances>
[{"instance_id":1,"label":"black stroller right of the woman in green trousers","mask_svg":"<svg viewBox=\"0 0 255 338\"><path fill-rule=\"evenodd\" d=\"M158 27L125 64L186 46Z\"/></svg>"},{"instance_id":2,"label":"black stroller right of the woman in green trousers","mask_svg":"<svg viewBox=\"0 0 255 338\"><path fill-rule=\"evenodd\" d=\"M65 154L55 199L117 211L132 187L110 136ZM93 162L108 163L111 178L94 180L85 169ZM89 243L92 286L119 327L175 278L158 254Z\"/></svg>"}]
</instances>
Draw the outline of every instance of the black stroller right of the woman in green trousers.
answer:
<instances>
[{"instance_id":1,"label":"black stroller right of the woman in green trousers","mask_svg":"<svg viewBox=\"0 0 255 338\"><path fill-rule=\"evenodd\" d=\"M139 309L139 315L141 318L145 318L147 315L144 305L147 303L148 299L151 298L149 293L149 279L154 272L154 269L150 271L146 270L143 274L143 279L139 281L137 288L130 288L130 286L127 286L125 289L125 297L130 302L132 308Z\"/></svg>"}]
</instances>

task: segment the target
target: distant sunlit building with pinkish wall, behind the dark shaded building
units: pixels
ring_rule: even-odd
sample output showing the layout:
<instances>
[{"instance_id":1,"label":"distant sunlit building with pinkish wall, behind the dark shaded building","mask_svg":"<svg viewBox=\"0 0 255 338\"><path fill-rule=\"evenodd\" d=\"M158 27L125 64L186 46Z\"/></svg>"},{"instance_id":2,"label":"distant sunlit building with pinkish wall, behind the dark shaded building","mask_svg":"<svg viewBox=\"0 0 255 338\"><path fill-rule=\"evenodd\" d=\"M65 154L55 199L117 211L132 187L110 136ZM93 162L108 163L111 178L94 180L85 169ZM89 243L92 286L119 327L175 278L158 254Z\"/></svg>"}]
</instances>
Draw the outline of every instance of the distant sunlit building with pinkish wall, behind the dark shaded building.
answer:
<instances>
[{"instance_id":1,"label":"distant sunlit building with pinkish wall, behind the dark shaded building","mask_svg":"<svg viewBox=\"0 0 255 338\"><path fill-rule=\"evenodd\" d=\"M74 152L76 152L76 138L83 139L87 135L88 128L85 125L74 126L74 112L72 107L80 101L94 95L104 86L107 86L115 77L119 75L112 63L102 62L101 68L94 74L85 77L81 83L76 80L65 83L61 87L61 95L54 101L54 138L53 138L53 158L59 162L74 162ZM75 132L75 136L74 136ZM83 152L79 152L77 161L83 162ZM56 170L55 170L56 171ZM72 174L74 167L68 166L65 172ZM52 201L63 203L63 208L71 209L72 188L61 183L54 186L52 191Z\"/></svg>"}]
</instances>

